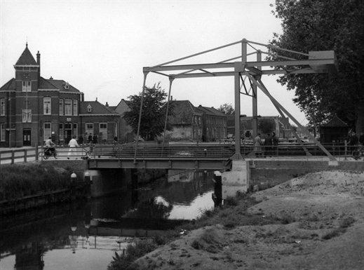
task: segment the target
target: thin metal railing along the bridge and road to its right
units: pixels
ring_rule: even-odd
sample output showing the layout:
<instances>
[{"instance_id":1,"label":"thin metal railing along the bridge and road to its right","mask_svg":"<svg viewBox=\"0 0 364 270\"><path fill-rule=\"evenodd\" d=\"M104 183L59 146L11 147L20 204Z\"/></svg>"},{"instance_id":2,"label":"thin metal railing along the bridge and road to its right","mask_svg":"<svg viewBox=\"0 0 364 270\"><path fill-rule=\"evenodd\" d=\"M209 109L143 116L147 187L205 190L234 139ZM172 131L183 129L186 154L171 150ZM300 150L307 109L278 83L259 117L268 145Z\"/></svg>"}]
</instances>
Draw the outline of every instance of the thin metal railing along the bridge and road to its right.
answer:
<instances>
[{"instance_id":1,"label":"thin metal railing along the bridge and road to its right","mask_svg":"<svg viewBox=\"0 0 364 270\"><path fill-rule=\"evenodd\" d=\"M241 154L251 156L326 156L315 144L278 144L256 147L252 144L241 146ZM334 156L352 156L358 146L326 144ZM229 158L235 153L234 144L138 144L137 158ZM134 144L101 145L89 149L90 158L109 156L131 158L135 154Z\"/></svg>"}]
</instances>

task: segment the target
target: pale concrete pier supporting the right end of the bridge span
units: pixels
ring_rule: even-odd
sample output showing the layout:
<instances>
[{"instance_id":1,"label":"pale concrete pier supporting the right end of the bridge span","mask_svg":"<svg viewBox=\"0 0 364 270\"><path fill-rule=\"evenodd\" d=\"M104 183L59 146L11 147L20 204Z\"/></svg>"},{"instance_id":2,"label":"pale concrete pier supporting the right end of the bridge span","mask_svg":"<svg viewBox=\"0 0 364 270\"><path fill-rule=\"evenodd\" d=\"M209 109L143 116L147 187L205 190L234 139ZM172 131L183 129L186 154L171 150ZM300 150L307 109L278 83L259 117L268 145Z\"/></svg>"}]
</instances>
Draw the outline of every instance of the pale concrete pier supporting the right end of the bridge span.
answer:
<instances>
[{"instance_id":1,"label":"pale concrete pier supporting the right end of the bridge span","mask_svg":"<svg viewBox=\"0 0 364 270\"><path fill-rule=\"evenodd\" d=\"M249 161L232 161L231 170L222 173L222 199L235 196L236 191L248 191L250 181Z\"/></svg>"}]
</instances>

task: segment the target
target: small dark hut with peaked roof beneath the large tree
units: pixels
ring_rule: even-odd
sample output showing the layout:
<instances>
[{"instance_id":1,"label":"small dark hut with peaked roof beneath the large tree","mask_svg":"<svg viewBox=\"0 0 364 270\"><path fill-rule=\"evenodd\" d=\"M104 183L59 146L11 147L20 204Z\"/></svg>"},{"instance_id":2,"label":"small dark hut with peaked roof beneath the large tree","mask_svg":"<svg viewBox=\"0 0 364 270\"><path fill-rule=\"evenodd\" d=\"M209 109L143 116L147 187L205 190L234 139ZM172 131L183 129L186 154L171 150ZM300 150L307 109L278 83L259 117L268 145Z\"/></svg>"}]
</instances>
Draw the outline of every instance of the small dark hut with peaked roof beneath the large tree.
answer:
<instances>
[{"instance_id":1,"label":"small dark hut with peaked roof beneath the large tree","mask_svg":"<svg viewBox=\"0 0 364 270\"><path fill-rule=\"evenodd\" d=\"M319 129L320 142L323 144L343 143L349 133L349 126L337 116L332 117L328 123L324 123Z\"/></svg>"}]
</instances>

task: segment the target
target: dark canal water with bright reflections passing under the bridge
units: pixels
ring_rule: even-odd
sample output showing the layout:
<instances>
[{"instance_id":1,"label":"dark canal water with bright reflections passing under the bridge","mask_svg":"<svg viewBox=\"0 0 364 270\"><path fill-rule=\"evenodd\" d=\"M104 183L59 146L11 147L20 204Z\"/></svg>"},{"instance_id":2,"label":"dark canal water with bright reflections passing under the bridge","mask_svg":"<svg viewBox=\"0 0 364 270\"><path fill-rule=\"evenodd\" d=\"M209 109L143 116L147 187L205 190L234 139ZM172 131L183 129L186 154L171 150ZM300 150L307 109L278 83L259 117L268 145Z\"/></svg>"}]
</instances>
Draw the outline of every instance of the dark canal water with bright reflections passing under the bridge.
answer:
<instances>
[{"instance_id":1,"label":"dark canal water with bright reflections passing under the bridge","mask_svg":"<svg viewBox=\"0 0 364 270\"><path fill-rule=\"evenodd\" d=\"M168 177L104 198L3 217L0 269L107 269L135 238L165 234L213 208L213 173Z\"/></svg>"}]
</instances>

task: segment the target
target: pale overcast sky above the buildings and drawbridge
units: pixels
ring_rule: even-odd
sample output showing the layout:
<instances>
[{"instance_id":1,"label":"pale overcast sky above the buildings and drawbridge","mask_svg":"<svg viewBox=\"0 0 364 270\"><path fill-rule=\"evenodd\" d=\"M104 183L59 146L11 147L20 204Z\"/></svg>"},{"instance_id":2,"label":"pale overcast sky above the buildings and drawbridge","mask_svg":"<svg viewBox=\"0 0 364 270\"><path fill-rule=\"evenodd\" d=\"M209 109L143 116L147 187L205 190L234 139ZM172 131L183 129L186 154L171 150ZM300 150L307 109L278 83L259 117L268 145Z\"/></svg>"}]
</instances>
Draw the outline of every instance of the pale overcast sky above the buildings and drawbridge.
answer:
<instances>
[{"instance_id":1,"label":"pale overcast sky above the buildings and drawbridge","mask_svg":"<svg viewBox=\"0 0 364 270\"><path fill-rule=\"evenodd\" d=\"M85 94L85 100L116 105L142 90L142 67L243 38L268 43L274 32L281 33L280 20L271 14L273 2L0 0L0 84L15 76L13 65L27 42L34 58L38 50L41 53L41 76L68 81ZM241 48L234 46L194 61L218 62L238 55ZM262 81L306 124L292 102L294 92L276 79L265 76ZM159 82L168 91L167 77L147 76L147 86ZM195 106L234 105L234 77L177 79L171 95ZM252 115L251 97L241 95L241 114ZM258 114L278 115L263 93L258 93Z\"/></svg>"}]
</instances>

